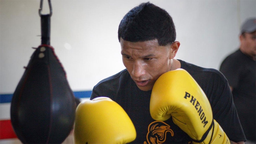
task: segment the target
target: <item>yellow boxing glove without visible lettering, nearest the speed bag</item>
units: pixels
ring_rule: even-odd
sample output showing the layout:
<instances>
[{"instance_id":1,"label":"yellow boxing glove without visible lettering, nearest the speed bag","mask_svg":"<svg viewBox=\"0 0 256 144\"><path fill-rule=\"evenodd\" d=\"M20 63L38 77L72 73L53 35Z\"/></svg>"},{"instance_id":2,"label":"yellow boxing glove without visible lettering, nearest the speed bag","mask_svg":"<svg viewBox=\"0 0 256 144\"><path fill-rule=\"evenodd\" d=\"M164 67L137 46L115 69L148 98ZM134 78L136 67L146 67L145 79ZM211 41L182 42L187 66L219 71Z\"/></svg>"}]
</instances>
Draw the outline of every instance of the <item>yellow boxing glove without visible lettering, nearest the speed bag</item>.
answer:
<instances>
[{"instance_id":1,"label":"yellow boxing glove without visible lettering, nearest the speed bag","mask_svg":"<svg viewBox=\"0 0 256 144\"><path fill-rule=\"evenodd\" d=\"M110 98L97 97L78 105L74 143L128 143L135 138L130 117Z\"/></svg>"}]
</instances>

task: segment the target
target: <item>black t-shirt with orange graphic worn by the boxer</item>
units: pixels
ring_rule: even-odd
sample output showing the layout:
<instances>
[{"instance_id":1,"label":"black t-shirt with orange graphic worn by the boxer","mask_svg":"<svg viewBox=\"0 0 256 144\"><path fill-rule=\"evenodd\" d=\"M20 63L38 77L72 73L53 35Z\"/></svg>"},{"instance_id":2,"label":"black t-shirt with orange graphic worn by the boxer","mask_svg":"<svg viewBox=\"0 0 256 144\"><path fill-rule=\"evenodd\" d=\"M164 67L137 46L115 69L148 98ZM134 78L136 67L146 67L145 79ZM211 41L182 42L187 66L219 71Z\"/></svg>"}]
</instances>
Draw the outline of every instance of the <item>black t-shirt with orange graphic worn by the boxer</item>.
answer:
<instances>
[{"instance_id":1,"label":"black t-shirt with orange graphic worn by the boxer","mask_svg":"<svg viewBox=\"0 0 256 144\"><path fill-rule=\"evenodd\" d=\"M201 86L212 107L214 119L221 125L230 140L245 141L232 95L225 77L215 69L201 68L179 60ZM136 139L131 143L189 143L192 139L172 121L155 121L150 116L152 91L140 90L125 69L94 86L90 99L99 96L111 98L123 107L131 118Z\"/></svg>"}]
</instances>

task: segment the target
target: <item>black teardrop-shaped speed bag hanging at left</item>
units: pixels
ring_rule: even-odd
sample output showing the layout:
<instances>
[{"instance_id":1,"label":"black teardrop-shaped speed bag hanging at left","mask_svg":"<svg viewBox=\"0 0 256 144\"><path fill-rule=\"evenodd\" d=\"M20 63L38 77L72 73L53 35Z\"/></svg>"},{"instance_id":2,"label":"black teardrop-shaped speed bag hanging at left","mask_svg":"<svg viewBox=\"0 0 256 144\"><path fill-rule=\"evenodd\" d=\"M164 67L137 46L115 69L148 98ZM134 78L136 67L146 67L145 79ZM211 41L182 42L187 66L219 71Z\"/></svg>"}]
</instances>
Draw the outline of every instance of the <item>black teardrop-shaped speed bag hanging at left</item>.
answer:
<instances>
[{"instance_id":1,"label":"black teardrop-shaped speed bag hanging at left","mask_svg":"<svg viewBox=\"0 0 256 144\"><path fill-rule=\"evenodd\" d=\"M62 143L73 128L76 102L49 45L32 54L13 94L10 117L23 143Z\"/></svg>"}]
</instances>

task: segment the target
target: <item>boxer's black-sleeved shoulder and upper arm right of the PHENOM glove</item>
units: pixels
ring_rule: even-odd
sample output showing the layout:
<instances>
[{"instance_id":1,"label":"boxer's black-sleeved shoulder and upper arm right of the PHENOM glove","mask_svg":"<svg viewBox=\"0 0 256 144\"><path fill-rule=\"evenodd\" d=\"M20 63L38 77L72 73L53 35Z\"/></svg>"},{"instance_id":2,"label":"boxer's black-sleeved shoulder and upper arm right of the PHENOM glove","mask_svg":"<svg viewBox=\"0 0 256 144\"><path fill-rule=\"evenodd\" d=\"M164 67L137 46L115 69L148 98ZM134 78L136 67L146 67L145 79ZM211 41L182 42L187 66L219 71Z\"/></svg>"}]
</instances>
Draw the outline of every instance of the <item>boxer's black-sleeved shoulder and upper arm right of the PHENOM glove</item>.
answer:
<instances>
[{"instance_id":1,"label":"boxer's black-sleeved shoulder and upper arm right of the PHENOM glove","mask_svg":"<svg viewBox=\"0 0 256 144\"><path fill-rule=\"evenodd\" d=\"M179 60L181 68L188 71L205 92L212 114L230 139L245 139L239 123L236 108L232 100L232 94L225 76L216 69L202 68L197 65ZM232 126L234 129L230 129ZM239 133L239 134L237 134Z\"/></svg>"}]
</instances>

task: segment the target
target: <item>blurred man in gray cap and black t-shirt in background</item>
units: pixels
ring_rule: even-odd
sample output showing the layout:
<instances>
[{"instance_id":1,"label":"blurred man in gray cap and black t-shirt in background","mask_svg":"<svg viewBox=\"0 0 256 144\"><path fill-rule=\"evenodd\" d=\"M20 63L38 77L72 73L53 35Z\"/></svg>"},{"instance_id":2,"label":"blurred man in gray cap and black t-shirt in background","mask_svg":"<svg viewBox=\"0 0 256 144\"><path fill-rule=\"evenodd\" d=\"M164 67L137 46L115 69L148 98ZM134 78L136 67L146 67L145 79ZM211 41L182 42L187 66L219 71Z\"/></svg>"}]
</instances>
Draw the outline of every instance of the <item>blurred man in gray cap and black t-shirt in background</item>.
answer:
<instances>
[{"instance_id":1,"label":"blurred man in gray cap and black t-shirt in background","mask_svg":"<svg viewBox=\"0 0 256 144\"><path fill-rule=\"evenodd\" d=\"M225 58L220 66L230 85L246 143L256 143L255 55L256 18L247 19L241 26L240 47Z\"/></svg>"}]
</instances>

